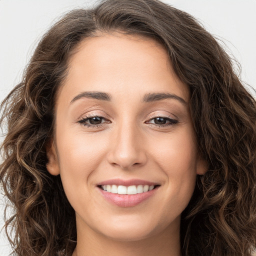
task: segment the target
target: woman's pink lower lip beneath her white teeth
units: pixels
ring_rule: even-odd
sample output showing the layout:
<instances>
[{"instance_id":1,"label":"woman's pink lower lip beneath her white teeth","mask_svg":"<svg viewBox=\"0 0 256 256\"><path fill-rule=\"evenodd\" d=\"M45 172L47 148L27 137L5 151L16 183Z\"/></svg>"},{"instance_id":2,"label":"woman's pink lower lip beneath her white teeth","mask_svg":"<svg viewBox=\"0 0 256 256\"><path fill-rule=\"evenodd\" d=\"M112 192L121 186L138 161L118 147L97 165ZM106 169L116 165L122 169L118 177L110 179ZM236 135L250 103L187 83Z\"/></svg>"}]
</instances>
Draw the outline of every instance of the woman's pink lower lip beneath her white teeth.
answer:
<instances>
[{"instance_id":1,"label":"woman's pink lower lip beneath her white teeth","mask_svg":"<svg viewBox=\"0 0 256 256\"><path fill-rule=\"evenodd\" d=\"M158 186L150 191L137 194L114 194L99 187L97 188L107 201L120 207L132 207L152 196L158 189Z\"/></svg>"}]
</instances>

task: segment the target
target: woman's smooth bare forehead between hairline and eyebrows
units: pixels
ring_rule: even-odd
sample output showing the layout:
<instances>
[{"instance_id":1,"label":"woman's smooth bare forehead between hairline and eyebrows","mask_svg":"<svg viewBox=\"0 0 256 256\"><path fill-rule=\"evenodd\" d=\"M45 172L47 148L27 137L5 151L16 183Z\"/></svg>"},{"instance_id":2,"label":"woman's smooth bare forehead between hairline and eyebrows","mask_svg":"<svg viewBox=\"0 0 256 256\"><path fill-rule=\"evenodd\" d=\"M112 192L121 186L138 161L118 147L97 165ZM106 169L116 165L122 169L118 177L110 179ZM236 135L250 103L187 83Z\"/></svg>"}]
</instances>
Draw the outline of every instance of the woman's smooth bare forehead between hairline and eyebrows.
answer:
<instances>
[{"instance_id":1,"label":"woman's smooth bare forehead between hairline and eyebrows","mask_svg":"<svg viewBox=\"0 0 256 256\"><path fill-rule=\"evenodd\" d=\"M69 59L63 85L59 92L64 89L70 97L97 90L119 95L174 92L189 98L187 86L174 73L159 42L120 33L84 39Z\"/></svg>"}]
</instances>

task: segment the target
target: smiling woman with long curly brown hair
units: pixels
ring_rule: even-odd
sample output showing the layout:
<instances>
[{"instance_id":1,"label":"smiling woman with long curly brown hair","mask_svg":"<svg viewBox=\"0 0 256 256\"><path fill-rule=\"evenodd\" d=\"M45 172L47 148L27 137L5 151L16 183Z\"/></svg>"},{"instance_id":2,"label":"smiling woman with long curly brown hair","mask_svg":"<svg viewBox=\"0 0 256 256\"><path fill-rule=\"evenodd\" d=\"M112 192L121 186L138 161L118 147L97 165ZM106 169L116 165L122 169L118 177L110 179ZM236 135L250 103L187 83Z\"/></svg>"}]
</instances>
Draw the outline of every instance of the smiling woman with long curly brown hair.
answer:
<instances>
[{"instance_id":1,"label":"smiling woman with long curly brown hair","mask_svg":"<svg viewBox=\"0 0 256 256\"><path fill-rule=\"evenodd\" d=\"M255 100L187 13L69 12L2 109L16 255L252 254Z\"/></svg>"}]
</instances>

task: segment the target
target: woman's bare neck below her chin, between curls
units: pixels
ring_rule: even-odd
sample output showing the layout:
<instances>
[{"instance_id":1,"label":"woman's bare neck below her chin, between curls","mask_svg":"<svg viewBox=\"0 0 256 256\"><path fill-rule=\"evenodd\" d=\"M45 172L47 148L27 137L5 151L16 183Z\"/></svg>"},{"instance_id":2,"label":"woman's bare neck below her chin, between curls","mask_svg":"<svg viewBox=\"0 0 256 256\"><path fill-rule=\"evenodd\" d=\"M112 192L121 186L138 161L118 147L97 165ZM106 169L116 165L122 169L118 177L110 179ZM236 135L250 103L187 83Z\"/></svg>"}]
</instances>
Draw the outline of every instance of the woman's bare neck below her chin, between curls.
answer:
<instances>
[{"instance_id":1,"label":"woman's bare neck below her chin, between curls","mask_svg":"<svg viewBox=\"0 0 256 256\"><path fill-rule=\"evenodd\" d=\"M83 230L77 230L72 256L180 256L179 227L135 241L118 241L93 230Z\"/></svg>"}]
</instances>

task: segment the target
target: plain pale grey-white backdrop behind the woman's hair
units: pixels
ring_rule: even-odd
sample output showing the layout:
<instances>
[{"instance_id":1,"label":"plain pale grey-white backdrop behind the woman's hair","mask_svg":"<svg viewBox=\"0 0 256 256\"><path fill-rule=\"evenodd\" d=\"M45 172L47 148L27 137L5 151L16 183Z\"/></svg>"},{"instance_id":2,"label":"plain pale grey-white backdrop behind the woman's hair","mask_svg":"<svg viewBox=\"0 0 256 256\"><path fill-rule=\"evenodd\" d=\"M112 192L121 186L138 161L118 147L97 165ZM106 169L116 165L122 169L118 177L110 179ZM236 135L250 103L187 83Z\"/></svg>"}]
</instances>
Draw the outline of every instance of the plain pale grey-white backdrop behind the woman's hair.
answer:
<instances>
[{"instance_id":1,"label":"plain pale grey-white backdrop behind the woman's hair","mask_svg":"<svg viewBox=\"0 0 256 256\"><path fill-rule=\"evenodd\" d=\"M256 0L162 0L195 16L241 64L241 80L256 89ZM63 13L95 0L0 0L0 101L17 84L40 36ZM248 89L256 96L252 88ZM0 228L4 200L0 195ZM2 230L0 256L10 252Z\"/></svg>"}]
</instances>

